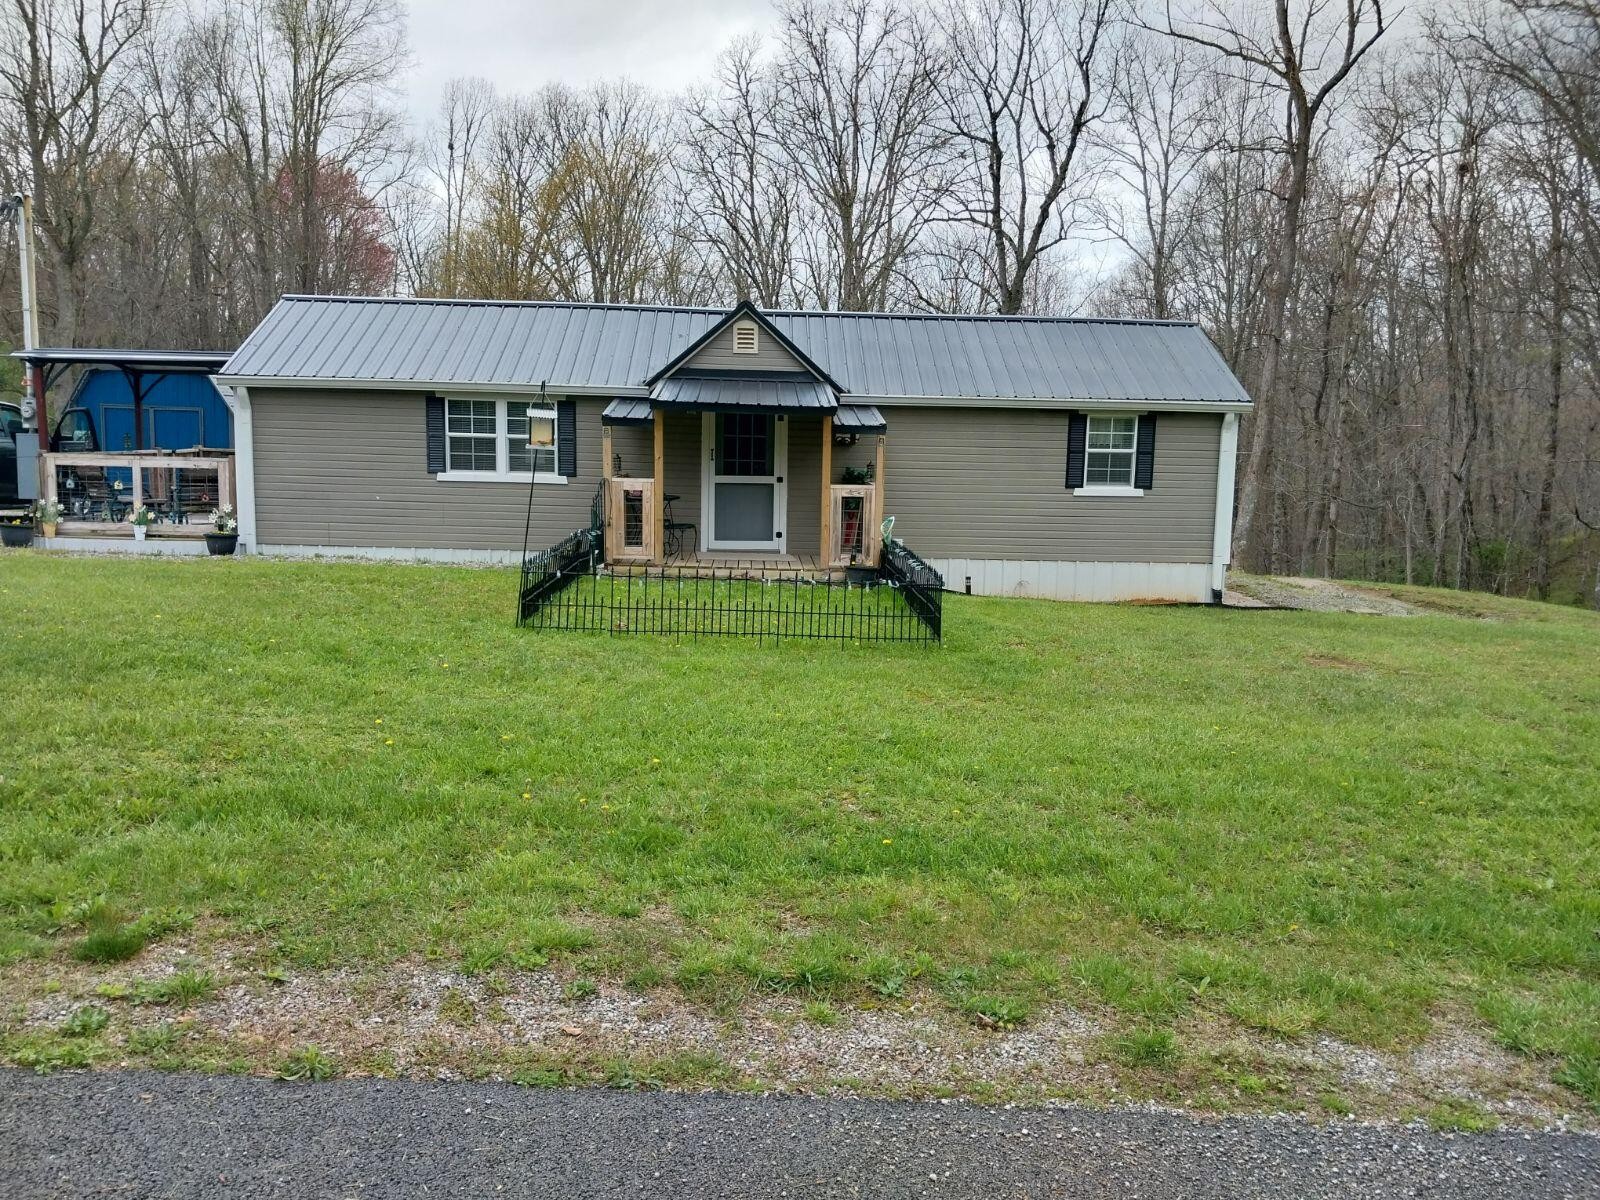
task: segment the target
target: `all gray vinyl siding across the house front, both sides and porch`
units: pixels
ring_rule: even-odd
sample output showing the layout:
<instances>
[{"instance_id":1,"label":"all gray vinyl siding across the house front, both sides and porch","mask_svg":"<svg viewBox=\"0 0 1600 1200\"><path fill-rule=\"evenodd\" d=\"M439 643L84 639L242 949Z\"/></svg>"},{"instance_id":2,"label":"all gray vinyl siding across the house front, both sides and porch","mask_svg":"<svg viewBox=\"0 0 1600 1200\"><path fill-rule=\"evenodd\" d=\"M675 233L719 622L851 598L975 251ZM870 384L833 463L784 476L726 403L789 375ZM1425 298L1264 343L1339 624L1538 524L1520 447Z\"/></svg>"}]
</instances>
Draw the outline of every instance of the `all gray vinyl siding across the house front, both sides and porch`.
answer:
<instances>
[{"instance_id":1,"label":"all gray vinyl siding across the house front, both sides and porch","mask_svg":"<svg viewBox=\"0 0 1600 1200\"><path fill-rule=\"evenodd\" d=\"M578 398L578 475L533 486L533 541L582 528L600 480L603 400ZM445 483L427 474L419 392L251 389L256 539L264 546L522 547L526 483ZM1064 486L1067 414L997 408L885 410L885 514L925 557L1203 563L1221 418L1162 413L1155 486L1144 496L1074 496ZM669 413L666 491L678 520L701 520L701 414ZM834 450L834 482L866 464L862 437ZM648 427L613 429L622 469L648 477ZM789 418L792 554L816 554L821 421ZM706 530L699 530L706 546Z\"/></svg>"}]
</instances>

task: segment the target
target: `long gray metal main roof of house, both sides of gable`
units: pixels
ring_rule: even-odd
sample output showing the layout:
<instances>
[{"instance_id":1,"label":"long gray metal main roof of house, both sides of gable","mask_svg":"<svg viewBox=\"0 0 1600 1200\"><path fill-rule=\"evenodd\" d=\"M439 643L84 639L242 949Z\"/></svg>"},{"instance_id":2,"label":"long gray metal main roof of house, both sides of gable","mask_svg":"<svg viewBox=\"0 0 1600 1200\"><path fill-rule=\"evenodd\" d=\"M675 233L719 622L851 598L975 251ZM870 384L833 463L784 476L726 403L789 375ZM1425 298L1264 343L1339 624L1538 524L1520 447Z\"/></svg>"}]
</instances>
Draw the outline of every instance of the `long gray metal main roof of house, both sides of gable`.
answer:
<instances>
[{"instance_id":1,"label":"long gray metal main roof of house, both sides of gable","mask_svg":"<svg viewBox=\"0 0 1600 1200\"><path fill-rule=\"evenodd\" d=\"M224 381L507 387L645 395L726 309L285 296ZM1248 405L1190 322L768 312L838 382L874 400L1133 400Z\"/></svg>"}]
</instances>

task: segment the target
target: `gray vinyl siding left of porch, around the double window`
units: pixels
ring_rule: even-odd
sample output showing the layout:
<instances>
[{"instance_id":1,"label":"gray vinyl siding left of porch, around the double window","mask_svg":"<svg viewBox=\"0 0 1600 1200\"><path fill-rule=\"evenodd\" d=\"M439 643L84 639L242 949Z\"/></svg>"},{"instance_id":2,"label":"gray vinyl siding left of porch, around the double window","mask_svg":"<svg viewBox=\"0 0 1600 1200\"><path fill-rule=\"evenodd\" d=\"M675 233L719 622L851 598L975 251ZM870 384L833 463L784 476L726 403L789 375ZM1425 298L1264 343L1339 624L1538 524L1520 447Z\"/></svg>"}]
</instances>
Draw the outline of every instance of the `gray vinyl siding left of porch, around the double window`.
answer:
<instances>
[{"instance_id":1,"label":"gray vinyl siding left of porch, around the double window","mask_svg":"<svg viewBox=\"0 0 1600 1200\"><path fill-rule=\"evenodd\" d=\"M250 392L256 541L520 550L526 483L443 483L427 474L419 392ZM533 486L533 541L589 525L603 400L578 398L578 477Z\"/></svg>"}]
</instances>

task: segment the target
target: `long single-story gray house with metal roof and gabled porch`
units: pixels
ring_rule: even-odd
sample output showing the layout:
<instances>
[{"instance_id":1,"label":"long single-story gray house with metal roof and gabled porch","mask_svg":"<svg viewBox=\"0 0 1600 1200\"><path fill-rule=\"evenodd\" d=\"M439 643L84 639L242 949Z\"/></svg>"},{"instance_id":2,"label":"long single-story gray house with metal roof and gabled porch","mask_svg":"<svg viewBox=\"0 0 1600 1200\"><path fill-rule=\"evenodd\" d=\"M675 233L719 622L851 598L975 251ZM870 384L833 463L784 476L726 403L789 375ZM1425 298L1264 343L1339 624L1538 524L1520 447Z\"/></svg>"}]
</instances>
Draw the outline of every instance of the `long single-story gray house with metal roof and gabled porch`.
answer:
<instances>
[{"instance_id":1,"label":"long single-story gray house with metal roof and gabled porch","mask_svg":"<svg viewBox=\"0 0 1600 1200\"><path fill-rule=\"evenodd\" d=\"M243 542L515 562L870 563L1221 597L1250 397L1187 322L285 296L232 389ZM554 429L554 445L530 430ZM544 440L544 438L536 438Z\"/></svg>"}]
</instances>

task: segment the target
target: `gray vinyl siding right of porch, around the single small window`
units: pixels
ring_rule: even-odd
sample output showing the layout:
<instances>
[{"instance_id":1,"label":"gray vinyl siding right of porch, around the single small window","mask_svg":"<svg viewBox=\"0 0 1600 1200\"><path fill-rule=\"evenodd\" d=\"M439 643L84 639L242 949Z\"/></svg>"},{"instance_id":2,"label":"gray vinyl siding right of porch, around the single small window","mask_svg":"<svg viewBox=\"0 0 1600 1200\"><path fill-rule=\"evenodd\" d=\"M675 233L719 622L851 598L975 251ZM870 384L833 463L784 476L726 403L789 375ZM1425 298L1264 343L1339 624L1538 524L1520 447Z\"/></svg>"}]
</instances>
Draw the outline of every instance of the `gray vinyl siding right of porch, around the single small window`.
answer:
<instances>
[{"instance_id":1,"label":"gray vinyl siding right of porch, around the single small window","mask_svg":"<svg viewBox=\"0 0 1600 1200\"><path fill-rule=\"evenodd\" d=\"M883 512L923 557L1211 560L1219 416L1157 416L1155 486L1144 496L1067 491L1066 413L893 406L883 416Z\"/></svg>"}]
</instances>

